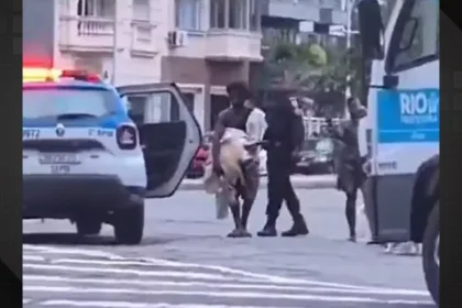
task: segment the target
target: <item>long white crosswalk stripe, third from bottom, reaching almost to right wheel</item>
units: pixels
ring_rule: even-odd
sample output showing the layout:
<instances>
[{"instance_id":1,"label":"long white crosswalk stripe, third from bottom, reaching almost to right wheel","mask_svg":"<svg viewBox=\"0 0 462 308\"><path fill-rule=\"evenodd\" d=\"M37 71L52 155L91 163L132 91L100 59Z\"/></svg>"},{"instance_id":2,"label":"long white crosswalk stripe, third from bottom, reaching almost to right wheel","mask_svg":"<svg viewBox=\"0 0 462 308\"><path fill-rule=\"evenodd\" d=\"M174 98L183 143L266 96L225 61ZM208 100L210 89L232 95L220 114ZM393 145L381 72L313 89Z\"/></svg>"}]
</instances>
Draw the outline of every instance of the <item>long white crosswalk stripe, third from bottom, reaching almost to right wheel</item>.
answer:
<instances>
[{"instance_id":1,"label":"long white crosswalk stripe, third from bottom, reaching almost to right wheel","mask_svg":"<svg viewBox=\"0 0 462 308\"><path fill-rule=\"evenodd\" d=\"M229 284L229 283L204 283L204 282L170 282L170 280L138 280L138 279L111 279L111 278L67 278L62 276L44 276L44 275L23 275L23 280L28 283L66 283L66 284L99 284L107 286L132 286L132 287L205 287L218 289L256 289L256 290L288 290L302 293L338 293L338 294L367 294L367 295L400 295L400 296L418 296L429 297L425 292L395 292L395 290L372 290L372 289L342 289L342 288L327 288L327 287L300 287L287 285L271 285L262 282L261 284Z\"/></svg>"}]
</instances>

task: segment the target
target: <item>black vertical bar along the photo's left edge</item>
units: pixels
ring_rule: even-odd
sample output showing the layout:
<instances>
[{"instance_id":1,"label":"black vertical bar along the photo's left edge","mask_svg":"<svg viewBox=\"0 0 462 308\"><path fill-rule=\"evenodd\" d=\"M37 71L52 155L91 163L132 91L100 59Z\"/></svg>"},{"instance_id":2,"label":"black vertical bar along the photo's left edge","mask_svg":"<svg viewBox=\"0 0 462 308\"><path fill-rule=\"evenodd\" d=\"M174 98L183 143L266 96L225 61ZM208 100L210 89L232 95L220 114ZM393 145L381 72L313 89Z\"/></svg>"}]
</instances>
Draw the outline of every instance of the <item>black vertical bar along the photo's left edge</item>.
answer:
<instances>
[{"instance_id":1,"label":"black vertical bar along the photo's left edge","mask_svg":"<svg viewBox=\"0 0 462 308\"><path fill-rule=\"evenodd\" d=\"M0 299L22 307L22 1L2 1L0 12Z\"/></svg>"}]
</instances>

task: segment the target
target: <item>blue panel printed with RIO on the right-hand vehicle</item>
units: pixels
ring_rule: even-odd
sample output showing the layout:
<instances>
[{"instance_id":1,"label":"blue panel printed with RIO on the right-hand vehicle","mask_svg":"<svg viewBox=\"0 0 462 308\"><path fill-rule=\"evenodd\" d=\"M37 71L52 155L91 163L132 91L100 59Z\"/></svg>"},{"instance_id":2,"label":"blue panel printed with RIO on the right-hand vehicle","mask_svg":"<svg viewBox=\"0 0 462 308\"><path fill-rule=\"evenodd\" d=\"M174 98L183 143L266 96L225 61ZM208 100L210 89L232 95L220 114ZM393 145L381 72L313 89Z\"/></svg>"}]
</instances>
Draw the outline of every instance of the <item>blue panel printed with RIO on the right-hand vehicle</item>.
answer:
<instances>
[{"instance_id":1,"label":"blue panel printed with RIO on the right-hand vehicle","mask_svg":"<svg viewBox=\"0 0 462 308\"><path fill-rule=\"evenodd\" d=\"M377 94L378 143L439 142L439 89Z\"/></svg>"}]
</instances>

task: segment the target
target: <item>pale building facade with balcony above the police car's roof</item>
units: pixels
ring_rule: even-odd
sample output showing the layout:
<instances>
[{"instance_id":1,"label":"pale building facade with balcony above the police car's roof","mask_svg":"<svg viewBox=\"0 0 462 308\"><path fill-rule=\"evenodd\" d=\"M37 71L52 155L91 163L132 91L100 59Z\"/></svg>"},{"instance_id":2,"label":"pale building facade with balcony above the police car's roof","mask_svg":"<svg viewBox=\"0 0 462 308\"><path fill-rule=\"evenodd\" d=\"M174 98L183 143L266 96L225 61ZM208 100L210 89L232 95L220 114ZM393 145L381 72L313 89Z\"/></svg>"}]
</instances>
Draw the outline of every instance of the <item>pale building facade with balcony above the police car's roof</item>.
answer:
<instances>
[{"instance_id":1,"label":"pale building facade with balcony above the police car's roof","mask_svg":"<svg viewBox=\"0 0 462 308\"><path fill-rule=\"evenodd\" d=\"M97 72L117 85L161 80L165 41L161 1L55 0L55 66Z\"/></svg>"}]
</instances>

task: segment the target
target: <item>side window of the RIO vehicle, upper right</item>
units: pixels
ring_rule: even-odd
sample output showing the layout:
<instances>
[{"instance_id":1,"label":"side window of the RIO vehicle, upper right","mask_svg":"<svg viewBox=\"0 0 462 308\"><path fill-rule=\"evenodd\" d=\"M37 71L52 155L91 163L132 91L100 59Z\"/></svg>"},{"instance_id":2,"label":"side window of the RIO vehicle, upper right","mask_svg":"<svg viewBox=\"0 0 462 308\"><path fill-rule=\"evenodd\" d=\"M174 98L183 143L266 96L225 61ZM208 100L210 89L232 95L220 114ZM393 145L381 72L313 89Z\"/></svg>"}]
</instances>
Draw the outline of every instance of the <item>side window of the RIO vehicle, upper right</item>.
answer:
<instances>
[{"instance_id":1,"label":"side window of the RIO vehicle, upper right","mask_svg":"<svg viewBox=\"0 0 462 308\"><path fill-rule=\"evenodd\" d=\"M388 59L392 72L439 56L439 1L409 0L403 10L392 38Z\"/></svg>"}]
</instances>

